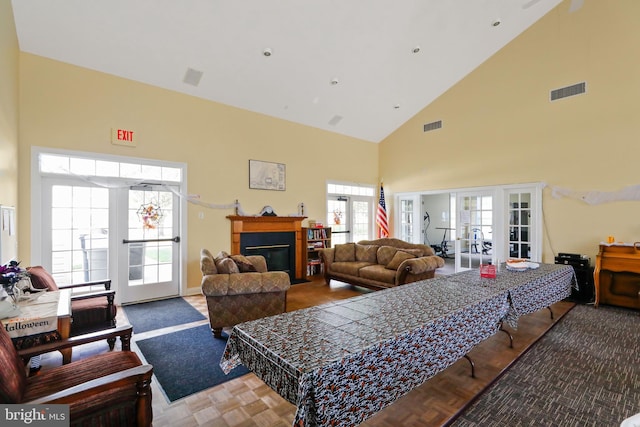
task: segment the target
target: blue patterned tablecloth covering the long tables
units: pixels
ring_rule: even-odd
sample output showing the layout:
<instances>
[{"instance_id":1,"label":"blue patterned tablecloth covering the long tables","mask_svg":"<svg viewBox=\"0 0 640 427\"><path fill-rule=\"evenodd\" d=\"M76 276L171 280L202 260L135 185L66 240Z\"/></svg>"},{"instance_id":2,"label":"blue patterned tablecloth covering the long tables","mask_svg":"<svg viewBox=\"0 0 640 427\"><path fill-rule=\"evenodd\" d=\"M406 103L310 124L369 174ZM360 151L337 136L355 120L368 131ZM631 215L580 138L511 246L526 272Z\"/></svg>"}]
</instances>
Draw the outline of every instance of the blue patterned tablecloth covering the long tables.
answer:
<instances>
[{"instance_id":1,"label":"blue patterned tablecloth covering the long tables","mask_svg":"<svg viewBox=\"0 0 640 427\"><path fill-rule=\"evenodd\" d=\"M567 297L570 266L495 279L477 270L246 322L220 363L252 370L298 408L296 426L354 426L446 369L503 321Z\"/></svg>"}]
</instances>

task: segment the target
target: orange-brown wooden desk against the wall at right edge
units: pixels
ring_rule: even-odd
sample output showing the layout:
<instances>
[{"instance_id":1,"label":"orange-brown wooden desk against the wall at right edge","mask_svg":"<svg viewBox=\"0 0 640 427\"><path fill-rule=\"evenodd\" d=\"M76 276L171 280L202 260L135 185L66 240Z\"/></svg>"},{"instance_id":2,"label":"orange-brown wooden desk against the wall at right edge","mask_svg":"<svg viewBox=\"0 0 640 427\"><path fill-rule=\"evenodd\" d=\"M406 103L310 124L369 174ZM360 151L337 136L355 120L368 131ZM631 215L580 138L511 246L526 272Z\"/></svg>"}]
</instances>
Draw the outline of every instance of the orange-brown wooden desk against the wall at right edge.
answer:
<instances>
[{"instance_id":1,"label":"orange-brown wooden desk against the wall at right edge","mask_svg":"<svg viewBox=\"0 0 640 427\"><path fill-rule=\"evenodd\" d=\"M640 242L601 243L593 271L598 304L640 309Z\"/></svg>"}]
</instances>

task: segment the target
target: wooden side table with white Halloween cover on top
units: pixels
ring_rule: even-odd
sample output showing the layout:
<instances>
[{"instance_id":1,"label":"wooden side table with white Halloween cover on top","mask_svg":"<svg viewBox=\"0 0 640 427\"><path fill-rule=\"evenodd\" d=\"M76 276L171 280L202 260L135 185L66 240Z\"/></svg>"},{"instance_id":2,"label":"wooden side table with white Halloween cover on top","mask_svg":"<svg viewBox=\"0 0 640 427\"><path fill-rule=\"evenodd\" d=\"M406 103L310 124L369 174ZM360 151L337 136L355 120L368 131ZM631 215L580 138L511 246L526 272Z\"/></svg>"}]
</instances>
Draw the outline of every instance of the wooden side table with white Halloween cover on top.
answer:
<instances>
[{"instance_id":1,"label":"wooden side table with white Halloween cover on top","mask_svg":"<svg viewBox=\"0 0 640 427\"><path fill-rule=\"evenodd\" d=\"M2 319L2 324L12 338L58 331L63 339L71 333L71 291L68 289L46 292L35 301L18 303L20 316ZM51 325L55 322L55 325ZM34 326L35 325L35 326ZM12 330L13 329L13 330ZM24 330L19 332L19 330ZM61 350L62 362L71 361L71 348Z\"/></svg>"}]
</instances>

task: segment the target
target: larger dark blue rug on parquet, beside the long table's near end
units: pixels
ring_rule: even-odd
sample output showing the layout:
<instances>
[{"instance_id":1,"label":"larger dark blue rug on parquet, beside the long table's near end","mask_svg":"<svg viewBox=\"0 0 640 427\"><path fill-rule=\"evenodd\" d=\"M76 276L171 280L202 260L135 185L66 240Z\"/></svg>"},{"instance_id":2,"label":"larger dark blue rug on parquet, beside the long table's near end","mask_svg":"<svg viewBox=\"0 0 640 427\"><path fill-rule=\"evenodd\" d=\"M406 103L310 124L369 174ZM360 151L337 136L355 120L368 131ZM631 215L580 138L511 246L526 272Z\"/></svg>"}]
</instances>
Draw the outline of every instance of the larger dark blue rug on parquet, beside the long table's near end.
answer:
<instances>
[{"instance_id":1,"label":"larger dark blue rug on parquet, beside the long table's near end","mask_svg":"<svg viewBox=\"0 0 640 427\"><path fill-rule=\"evenodd\" d=\"M249 372L244 366L238 366L229 375L222 372L219 363L227 340L214 338L209 325L136 341L136 344L153 365L153 373L171 402Z\"/></svg>"}]
</instances>

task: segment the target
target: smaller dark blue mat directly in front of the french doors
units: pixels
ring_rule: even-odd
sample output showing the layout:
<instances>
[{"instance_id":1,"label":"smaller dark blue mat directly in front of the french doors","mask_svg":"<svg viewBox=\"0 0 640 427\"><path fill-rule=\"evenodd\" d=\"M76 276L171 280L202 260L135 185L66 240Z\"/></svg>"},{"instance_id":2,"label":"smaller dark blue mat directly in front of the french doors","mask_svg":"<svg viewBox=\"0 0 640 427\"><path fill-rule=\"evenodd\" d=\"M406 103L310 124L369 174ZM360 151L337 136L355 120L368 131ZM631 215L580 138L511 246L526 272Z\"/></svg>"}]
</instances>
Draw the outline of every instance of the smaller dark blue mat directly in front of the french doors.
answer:
<instances>
[{"instance_id":1,"label":"smaller dark blue mat directly in front of the french doors","mask_svg":"<svg viewBox=\"0 0 640 427\"><path fill-rule=\"evenodd\" d=\"M126 305L123 309L136 334L206 319L182 298Z\"/></svg>"}]
</instances>

